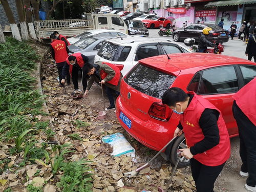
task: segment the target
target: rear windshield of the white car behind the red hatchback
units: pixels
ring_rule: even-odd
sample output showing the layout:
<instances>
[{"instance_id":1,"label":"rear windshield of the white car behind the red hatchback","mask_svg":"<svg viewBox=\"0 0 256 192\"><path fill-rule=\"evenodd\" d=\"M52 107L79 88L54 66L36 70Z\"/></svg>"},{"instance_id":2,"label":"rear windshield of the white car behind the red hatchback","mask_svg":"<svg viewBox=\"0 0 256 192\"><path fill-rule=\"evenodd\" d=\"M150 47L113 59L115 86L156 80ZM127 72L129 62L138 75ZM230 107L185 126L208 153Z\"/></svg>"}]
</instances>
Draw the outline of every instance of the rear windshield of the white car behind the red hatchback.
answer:
<instances>
[{"instance_id":1,"label":"rear windshield of the white car behind the red hatchback","mask_svg":"<svg viewBox=\"0 0 256 192\"><path fill-rule=\"evenodd\" d=\"M97 54L109 61L125 61L131 48L130 46L118 46L111 42L106 42Z\"/></svg>"}]
</instances>

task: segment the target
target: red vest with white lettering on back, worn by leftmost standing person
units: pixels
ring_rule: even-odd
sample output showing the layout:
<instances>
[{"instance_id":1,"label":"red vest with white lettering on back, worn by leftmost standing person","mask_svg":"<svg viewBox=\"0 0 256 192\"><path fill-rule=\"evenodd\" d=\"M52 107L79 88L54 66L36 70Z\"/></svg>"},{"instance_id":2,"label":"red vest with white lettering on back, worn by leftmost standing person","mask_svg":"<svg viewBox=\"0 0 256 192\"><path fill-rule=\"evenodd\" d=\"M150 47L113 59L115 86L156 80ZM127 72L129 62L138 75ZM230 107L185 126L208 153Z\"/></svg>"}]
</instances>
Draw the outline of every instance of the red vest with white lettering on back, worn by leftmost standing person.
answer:
<instances>
[{"instance_id":1,"label":"red vest with white lettering on back, worn by leftmost standing person","mask_svg":"<svg viewBox=\"0 0 256 192\"><path fill-rule=\"evenodd\" d=\"M68 53L66 50L65 42L62 40L54 39L51 43L51 46L54 49L56 63L66 61Z\"/></svg>"}]
</instances>

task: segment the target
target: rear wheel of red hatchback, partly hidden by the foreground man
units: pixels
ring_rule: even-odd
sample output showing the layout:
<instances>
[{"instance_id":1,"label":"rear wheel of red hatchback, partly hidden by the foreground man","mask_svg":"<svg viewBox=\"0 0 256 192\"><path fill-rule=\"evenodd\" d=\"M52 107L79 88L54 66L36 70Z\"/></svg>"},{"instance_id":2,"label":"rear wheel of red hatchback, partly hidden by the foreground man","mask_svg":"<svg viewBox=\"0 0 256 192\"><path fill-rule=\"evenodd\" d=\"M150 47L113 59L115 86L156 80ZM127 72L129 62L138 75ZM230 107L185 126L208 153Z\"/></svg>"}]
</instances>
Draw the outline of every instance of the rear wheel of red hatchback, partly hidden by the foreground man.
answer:
<instances>
[{"instance_id":1,"label":"rear wheel of red hatchback, partly hidden by the foreground man","mask_svg":"<svg viewBox=\"0 0 256 192\"><path fill-rule=\"evenodd\" d=\"M175 140L173 147L172 147L172 151L170 152L170 162L174 165L176 164L176 162L178 160L177 151L180 148L187 148L186 139L185 139L184 134L182 134L180 137L178 137ZM178 167L185 167L185 166L188 166L189 164L190 164L190 162L188 159L186 159L185 157L181 157Z\"/></svg>"}]
</instances>

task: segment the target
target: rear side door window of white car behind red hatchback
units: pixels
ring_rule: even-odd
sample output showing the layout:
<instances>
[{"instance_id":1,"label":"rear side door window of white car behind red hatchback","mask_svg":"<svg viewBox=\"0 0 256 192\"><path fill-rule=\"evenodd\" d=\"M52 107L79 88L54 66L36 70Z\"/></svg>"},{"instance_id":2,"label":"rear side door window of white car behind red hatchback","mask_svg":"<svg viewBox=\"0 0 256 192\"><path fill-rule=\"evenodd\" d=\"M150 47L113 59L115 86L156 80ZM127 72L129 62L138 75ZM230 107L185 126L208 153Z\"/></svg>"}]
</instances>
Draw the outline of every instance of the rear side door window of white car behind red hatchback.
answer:
<instances>
[{"instance_id":1,"label":"rear side door window of white car behind red hatchback","mask_svg":"<svg viewBox=\"0 0 256 192\"><path fill-rule=\"evenodd\" d=\"M136 52L135 61L138 61L140 59L144 59L147 57L153 57L159 55L157 46L155 45L148 45L140 47Z\"/></svg>"}]
</instances>

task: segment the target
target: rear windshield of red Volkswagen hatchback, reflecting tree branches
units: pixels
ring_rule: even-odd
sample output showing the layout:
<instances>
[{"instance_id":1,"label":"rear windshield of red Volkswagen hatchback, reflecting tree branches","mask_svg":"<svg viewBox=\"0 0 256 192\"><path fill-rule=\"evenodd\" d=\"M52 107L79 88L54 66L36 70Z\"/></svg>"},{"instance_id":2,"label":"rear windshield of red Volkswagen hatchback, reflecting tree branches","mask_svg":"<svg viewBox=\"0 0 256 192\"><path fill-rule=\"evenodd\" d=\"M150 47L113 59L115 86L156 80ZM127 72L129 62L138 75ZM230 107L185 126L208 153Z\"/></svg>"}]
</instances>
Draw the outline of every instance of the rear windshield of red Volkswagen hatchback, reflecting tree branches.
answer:
<instances>
[{"instance_id":1,"label":"rear windshield of red Volkswagen hatchback, reflecting tree branches","mask_svg":"<svg viewBox=\"0 0 256 192\"><path fill-rule=\"evenodd\" d=\"M152 97L162 98L175 80L175 76L138 63L124 78L134 89Z\"/></svg>"}]
</instances>

